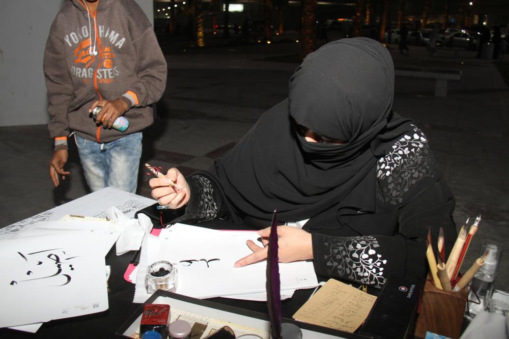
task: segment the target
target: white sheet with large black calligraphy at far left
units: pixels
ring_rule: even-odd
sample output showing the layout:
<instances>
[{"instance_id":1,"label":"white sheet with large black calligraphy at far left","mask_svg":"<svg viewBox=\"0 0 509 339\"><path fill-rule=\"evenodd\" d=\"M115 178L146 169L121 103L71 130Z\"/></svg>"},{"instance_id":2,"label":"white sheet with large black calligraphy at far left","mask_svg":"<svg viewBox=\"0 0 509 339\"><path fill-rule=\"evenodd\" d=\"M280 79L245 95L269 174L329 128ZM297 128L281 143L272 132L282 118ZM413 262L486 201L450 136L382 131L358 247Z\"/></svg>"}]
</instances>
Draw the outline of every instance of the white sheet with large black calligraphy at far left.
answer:
<instances>
[{"instance_id":1,"label":"white sheet with large black calligraphy at far left","mask_svg":"<svg viewBox=\"0 0 509 339\"><path fill-rule=\"evenodd\" d=\"M106 310L103 238L73 231L0 240L0 327Z\"/></svg>"}]
</instances>

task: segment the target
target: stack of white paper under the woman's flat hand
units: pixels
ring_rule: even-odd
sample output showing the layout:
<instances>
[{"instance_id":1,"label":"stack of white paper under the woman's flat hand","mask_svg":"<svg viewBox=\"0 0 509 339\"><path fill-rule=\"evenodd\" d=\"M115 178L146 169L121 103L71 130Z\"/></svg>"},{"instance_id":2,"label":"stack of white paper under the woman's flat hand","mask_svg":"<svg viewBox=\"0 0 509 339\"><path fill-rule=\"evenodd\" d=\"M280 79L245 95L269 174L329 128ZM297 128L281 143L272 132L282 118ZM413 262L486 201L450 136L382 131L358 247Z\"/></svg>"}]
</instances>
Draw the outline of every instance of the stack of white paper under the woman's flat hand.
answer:
<instances>
[{"instance_id":1,"label":"stack of white paper under the woman's flat hand","mask_svg":"<svg viewBox=\"0 0 509 339\"><path fill-rule=\"evenodd\" d=\"M216 231L185 224L175 224L163 230L159 237L148 236L140 257L145 271L143 274L138 271L134 301L147 297L142 289L145 265L161 260L176 265L179 294L195 298L266 300L266 261L234 267L237 260L252 253L246 241L257 243L259 237L252 231ZM279 274L283 298L297 289L318 286L312 262L280 263Z\"/></svg>"}]
</instances>

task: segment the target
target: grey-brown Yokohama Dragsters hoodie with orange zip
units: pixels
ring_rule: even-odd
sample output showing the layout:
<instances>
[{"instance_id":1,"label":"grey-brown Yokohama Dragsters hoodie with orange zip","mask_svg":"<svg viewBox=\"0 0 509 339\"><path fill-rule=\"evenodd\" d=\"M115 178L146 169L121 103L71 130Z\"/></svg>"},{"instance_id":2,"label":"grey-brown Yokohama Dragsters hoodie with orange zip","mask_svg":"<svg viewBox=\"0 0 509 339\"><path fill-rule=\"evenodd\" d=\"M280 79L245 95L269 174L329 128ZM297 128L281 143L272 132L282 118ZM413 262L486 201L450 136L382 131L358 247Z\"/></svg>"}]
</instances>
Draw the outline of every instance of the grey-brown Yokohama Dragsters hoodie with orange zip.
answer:
<instances>
[{"instance_id":1,"label":"grey-brown Yokohama Dragsters hoodie with orange zip","mask_svg":"<svg viewBox=\"0 0 509 339\"><path fill-rule=\"evenodd\" d=\"M134 0L99 0L90 21L88 13L81 0L67 1L46 43L48 128L55 150L67 148L71 130L103 143L150 126L154 118L149 105L159 100L166 85L166 61ZM127 131L97 126L89 113L92 102L118 98L130 107Z\"/></svg>"}]
</instances>

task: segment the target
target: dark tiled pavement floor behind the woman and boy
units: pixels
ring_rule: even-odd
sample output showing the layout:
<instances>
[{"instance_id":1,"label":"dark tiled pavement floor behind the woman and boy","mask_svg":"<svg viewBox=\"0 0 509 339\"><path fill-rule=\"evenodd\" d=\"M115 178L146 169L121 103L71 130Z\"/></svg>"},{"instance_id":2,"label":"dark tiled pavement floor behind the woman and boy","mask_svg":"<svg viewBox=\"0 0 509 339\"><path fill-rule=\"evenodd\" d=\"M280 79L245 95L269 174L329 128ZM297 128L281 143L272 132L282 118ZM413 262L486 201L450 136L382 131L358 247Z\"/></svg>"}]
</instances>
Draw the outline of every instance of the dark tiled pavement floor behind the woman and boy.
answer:
<instances>
[{"instance_id":1,"label":"dark tiled pavement floor behind the woman and boy","mask_svg":"<svg viewBox=\"0 0 509 339\"><path fill-rule=\"evenodd\" d=\"M205 53L206 52L206 53ZM235 145L263 112L285 99L297 64L260 61L266 56L297 52L296 44L208 49L167 56L169 73L158 104L156 123L144 133L142 163L184 174L207 168ZM447 97L434 97L434 81L397 77L394 110L410 117L426 132L457 200L459 225L467 216L483 215L466 265L475 259L480 241L502 241L509 251L509 89L491 61L475 52L461 59L438 52L429 58L423 48L409 55L391 50L396 65L462 70L449 82ZM42 89L41 89L42 90ZM0 128L0 226L86 194L75 147L71 171L59 188L48 177L52 142L46 126ZM150 196L149 176L142 169L138 193ZM108 206L105 206L107 208ZM509 291L509 253L504 253L495 287Z\"/></svg>"}]
</instances>

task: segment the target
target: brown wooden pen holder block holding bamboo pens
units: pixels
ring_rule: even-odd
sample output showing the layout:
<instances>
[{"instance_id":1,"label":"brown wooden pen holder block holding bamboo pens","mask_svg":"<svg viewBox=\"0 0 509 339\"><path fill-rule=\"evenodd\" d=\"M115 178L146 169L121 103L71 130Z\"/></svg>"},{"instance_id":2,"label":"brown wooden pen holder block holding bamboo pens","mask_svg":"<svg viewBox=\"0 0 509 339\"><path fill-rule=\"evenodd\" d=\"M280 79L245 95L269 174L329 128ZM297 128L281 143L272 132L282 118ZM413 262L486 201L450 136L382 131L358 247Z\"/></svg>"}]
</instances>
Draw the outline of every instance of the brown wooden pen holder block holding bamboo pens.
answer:
<instances>
[{"instance_id":1,"label":"brown wooden pen holder block holding bamboo pens","mask_svg":"<svg viewBox=\"0 0 509 339\"><path fill-rule=\"evenodd\" d=\"M453 339L459 338L466 302L466 288L459 292L447 292L426 280L415 324L415 336L424 338L426 331L430 331Z\"/></svg>"}]
</instances>

